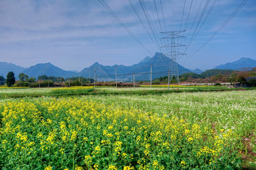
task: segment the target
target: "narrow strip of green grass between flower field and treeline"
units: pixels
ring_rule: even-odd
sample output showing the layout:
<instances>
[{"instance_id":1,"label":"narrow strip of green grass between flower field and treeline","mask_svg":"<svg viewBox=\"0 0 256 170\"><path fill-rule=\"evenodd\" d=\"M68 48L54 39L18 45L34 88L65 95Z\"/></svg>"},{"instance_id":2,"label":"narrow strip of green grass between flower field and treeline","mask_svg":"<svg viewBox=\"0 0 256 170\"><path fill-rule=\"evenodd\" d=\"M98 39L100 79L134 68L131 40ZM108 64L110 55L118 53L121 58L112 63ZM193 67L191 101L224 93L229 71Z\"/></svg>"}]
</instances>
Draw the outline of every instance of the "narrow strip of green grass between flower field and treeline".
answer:
<instances>
[{"instance_id":1,"label":"narrow strip of green grass between flower field and treeline","mask_svg":"<svg viewBox=\"0 0 256 170\"><path fill-rule=\"evenodd\" d=\"M89 89L88 89L89 88ZM149 95L149 94L171 94L181 92L196 92L196 91L238 91L238 90L253 90L256 88L236 88L228 89L223 86L188 86L188 87L171 87L170 90L166 87L137 87L137 88L114 88L114 87L70 87L70 88L0 88L0 98L9 97L40 97L40 96L70 96L70 95L108 95L108 94L125 94L125 95Z\"/></svg>"}]
</instances>

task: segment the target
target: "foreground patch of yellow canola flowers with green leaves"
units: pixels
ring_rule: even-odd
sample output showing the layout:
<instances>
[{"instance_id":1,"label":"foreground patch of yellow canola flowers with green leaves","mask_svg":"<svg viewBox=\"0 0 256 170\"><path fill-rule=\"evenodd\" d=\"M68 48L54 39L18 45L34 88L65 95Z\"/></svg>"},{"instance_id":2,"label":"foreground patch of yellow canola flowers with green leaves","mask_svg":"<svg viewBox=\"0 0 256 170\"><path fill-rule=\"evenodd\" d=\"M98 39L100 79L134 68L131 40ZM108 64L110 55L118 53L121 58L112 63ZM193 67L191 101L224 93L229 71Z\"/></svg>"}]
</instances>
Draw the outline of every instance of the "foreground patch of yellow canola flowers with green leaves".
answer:
<instances>
[{"instance_id":1,"label":"foreground patch of yellow canola flowers with green leaves","mask_svg":"<svg viewBox=\"0 0 256 170\"><path fill-rule=\"evenodd\" d=\"M18 99L0 111L0 159L9 169L182 169L192 166L180 158L188 152L193 166L214 167L233 140L231 130L82 98Z\"/></svg>"}]
</instances>

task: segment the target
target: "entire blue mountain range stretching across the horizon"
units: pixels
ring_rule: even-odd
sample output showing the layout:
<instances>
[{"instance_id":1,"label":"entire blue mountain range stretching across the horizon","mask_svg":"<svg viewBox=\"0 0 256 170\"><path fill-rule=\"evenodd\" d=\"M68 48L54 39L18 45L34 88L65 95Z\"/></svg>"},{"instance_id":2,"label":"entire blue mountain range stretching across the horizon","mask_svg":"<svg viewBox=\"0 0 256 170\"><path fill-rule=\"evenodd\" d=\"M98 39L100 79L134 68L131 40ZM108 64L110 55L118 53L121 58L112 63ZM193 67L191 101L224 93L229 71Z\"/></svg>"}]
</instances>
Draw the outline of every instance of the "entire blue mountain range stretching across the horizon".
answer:
<instances>
[{"instance_id":1,"label":"entire blue mountain range stretching across the horizon","mask_svg":"<svg viewBox=\"0 0 256 170\"><path fill-rule=\"evenodd\" d=\"M43 63L36 64L29 68L23 68L12 63L0 62L0 74L6 77L8 72L14 72L16 79L18 79L18 74L23 72L27 74L28 77L38 77L43 74L47 76L55 77L78 77L79 75L85 78L94 79L97 75L98 81L112 81L115 79L115 69L117 69L117 75L119 81L132 81L133 72L135 74L135 79L144 80L150 79L150 66L152 66L152 79L164 77L167 75L167 70L169 69L169 63L174 63L169 57L166 57L160 52L156 52L153 57L145 57L141 62L134 64L132 66L124 65L113 65L104 66L95 62L90 67L82 69L81 72L78 71L66 71L53 64ZM214 69L233 69L239 70L239 68L256 67L256 60L250 58L241 58L235 62L228 62L226 64L220 64ZM179 74L186 72L194 72L196 74L201 74L203 71L201 69L189 70L178 64Z\"/></svg>"}]
</instances>

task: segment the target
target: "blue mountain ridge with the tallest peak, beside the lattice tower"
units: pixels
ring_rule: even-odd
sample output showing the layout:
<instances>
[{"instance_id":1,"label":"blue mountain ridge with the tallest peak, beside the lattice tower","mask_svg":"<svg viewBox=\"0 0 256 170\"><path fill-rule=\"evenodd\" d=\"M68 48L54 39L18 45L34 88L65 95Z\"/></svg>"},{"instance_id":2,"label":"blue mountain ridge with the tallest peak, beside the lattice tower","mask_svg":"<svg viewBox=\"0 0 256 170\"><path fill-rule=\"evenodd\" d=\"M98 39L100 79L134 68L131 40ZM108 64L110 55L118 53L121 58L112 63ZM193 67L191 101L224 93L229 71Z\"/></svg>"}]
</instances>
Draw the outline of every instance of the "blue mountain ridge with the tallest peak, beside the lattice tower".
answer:
<instances>
[{"instance_id":1,"label":"blue mountain ridge with the tallest peak, beside the lattice tower","mask_svg":"<svg viewBox=\"0 0 256 170\"><path fill-rule=\"evenodd\" d=\"M132 74L133 71L136 75L136 80L149 80L149 73L150 73L150 65L152 65L152 79L158 77L167 76L167 70L169 69L169 63L174 62L169 57L166 57L161 52L156 52L154 57L145 57L141 62L138 64L134 64L132 66L124 66L124 65L113 65L113 66L103 66L98 62L95 62L90 67L82 69L80 75L82 77L89 78L91 74L91 78L94 77L94 69L96 70L96 74L98 80L110 81L115 79L115 69L117 67L117 77L121 81L132 81ZM189 69L182 67L178 64L178 72L180 74L191 72ZM89 74L90 72L90 74Z\"/></svg>"}]
</instances>

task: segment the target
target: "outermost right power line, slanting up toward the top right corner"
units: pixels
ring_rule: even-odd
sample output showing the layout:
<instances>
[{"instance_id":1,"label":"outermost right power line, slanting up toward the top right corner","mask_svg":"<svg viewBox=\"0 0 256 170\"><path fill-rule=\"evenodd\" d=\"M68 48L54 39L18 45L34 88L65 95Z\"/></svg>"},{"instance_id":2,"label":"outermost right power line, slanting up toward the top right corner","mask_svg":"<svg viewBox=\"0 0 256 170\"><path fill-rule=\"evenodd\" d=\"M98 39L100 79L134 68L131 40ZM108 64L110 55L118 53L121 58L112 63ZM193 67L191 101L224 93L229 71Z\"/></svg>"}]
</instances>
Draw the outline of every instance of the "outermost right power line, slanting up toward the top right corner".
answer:
<instances>
[{"instance_id":1,"label":"outermost right power line, slanting up toward the top right corner","mask_svg":"<svg viewBox=\"0 0 256 170\"><path fill-rule=\"evenodd\" d=\"M248 0L242 1L242 3L237 8L235 8L235 11L231 13L231 15L224 21L224 23L218 28L218 30L216 30L215 33L213 33L213 35L211 35L211 37L201 47L199 47L198 50L196 50L196 52L194 52L191 55L191 57L193 55L196 55L197 52L199 52L203 47L205 47L208 44L208 42L210 42L210 40L212 40L215 37L215 35L217 35L220 32L220 30L222 30L222 28L225 27L225 25L235 16L235 14L238 13L238 11L240 11L242 6L244 6L247 3L247 1Z\"/></svg>"}]
</instances>

